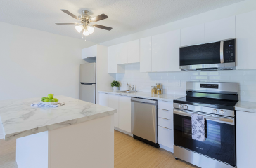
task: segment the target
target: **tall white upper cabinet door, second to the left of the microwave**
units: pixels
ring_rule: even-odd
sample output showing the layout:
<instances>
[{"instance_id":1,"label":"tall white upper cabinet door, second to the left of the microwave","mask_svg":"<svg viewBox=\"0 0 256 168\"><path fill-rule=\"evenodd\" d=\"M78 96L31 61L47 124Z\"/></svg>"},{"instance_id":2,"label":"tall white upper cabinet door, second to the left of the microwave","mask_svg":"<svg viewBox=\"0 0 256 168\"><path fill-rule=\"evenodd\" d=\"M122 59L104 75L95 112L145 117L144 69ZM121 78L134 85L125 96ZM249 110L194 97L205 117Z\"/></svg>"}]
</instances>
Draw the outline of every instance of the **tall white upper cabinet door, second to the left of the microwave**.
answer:
<instances>
[{"instance_id":1,"label":"tall white upper cabinet door, second to the left of the microwave","mask_svg":"<svg viewBox=\"0 0 256 168\"><path fill-rule=\"evenodd\" d=\"M152 71L165 71L165 34L152 36Z\"/></svg>"}]
</instances>

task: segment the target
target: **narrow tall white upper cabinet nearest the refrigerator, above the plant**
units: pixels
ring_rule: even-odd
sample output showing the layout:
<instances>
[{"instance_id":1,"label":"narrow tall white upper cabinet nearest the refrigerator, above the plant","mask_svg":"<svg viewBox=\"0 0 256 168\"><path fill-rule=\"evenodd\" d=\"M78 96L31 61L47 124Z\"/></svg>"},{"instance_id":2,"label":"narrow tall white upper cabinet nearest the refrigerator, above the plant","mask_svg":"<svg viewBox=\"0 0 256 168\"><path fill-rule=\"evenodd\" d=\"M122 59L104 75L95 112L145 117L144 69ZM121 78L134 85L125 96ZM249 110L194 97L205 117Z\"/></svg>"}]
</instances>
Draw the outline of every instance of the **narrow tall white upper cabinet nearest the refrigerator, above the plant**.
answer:
<instances>
[{"instance_id":1,"label":"narrow tall white upper cabinet nearest the refrigerator, above the plant","mask_svg":"<svg viewBox=\"0 0 256 168\"><path fill-rule=\"evenodd\" d=\"M125 73L123 65L117 65L117 45L108 47L108 73Z\"/></svg>"}]
</instances>

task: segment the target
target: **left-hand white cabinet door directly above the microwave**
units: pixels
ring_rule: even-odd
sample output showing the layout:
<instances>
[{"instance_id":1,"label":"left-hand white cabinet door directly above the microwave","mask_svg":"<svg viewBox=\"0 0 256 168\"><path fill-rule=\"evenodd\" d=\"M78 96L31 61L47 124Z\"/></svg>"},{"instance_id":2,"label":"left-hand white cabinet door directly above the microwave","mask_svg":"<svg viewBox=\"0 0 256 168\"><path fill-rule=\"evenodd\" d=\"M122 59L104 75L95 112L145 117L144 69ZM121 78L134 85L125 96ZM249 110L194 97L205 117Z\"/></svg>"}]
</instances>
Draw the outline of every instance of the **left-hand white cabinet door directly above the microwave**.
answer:
<instances>
[{"instance_id":1,"label":"left-hand white cabinet door directly above the microwave","mask_svg":"<svg viewBox=\"0 0 256 168\"><path fill-rule=\"evenodd\" d=\"M181 29L181 46L205 43L205 24Z\"/></svg>"}]
</instances>

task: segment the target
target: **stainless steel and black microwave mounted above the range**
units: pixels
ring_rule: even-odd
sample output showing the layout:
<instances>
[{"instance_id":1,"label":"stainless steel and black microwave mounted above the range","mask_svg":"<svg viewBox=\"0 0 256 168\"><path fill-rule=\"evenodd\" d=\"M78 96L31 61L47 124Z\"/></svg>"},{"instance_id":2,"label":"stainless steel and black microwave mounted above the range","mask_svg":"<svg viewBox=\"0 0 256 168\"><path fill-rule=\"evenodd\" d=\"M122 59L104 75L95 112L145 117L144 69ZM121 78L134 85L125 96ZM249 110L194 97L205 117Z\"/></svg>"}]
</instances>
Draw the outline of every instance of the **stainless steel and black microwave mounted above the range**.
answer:
<instances>
[{"instance_id":1,"label":"stainless steel and black microwave mounted above the range","mask_svg":"<svg viewBox=\"0 0 256 168\"><path fill-rule=\"evenodd\" d=\"M181 71L236 69L236 39L179 48Z\"/></svg>"}]
</instances>

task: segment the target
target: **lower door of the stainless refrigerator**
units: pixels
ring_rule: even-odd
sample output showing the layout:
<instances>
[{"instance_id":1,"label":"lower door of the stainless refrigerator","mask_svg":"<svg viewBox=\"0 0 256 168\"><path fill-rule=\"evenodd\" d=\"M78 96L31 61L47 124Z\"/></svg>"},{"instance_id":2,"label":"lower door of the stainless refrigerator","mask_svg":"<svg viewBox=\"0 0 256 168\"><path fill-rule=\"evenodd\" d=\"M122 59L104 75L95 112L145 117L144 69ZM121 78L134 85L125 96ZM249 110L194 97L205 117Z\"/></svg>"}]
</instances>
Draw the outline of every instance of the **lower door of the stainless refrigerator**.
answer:
<instances>
[{"instance_id":1,"label":"lower door of the stainless refrigerator","mask_svg":"<svg viewBox=\"0 0 256 168\"><path fill-rule=\"evenodd\" d=\"M80 100L84 100L86 102L96 103L96 84L80 83Z\"/></svg>"}]
</instances>

